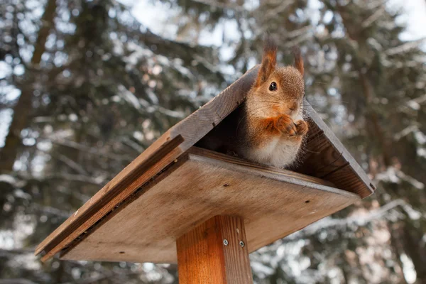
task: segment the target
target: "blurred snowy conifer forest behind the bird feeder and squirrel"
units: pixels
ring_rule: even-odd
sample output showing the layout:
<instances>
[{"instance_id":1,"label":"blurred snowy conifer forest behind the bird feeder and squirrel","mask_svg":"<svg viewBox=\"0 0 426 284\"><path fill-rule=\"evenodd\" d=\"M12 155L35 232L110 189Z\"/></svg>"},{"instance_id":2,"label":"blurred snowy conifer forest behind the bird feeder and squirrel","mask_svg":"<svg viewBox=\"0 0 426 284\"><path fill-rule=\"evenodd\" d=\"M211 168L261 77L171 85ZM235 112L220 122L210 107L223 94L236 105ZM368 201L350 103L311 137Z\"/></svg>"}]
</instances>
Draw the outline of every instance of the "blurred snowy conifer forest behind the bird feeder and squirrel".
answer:
<instances>
[{"instance_id":1,"label":"blurred snowy conifer forest behind the bird feeder and squirrel","mask_svg":"<svg viewBox=\"0 0 426 284\"><path fill-rule=\"evenodd\" d=\"M252 253L256 283L426 283L426 54L404 13L386 0L2 0L0 284L177 283L176 266L33 251L260 62L266 31L283 63L300 46L307 100L378 191Z\"/></svg>"}]
</instances>

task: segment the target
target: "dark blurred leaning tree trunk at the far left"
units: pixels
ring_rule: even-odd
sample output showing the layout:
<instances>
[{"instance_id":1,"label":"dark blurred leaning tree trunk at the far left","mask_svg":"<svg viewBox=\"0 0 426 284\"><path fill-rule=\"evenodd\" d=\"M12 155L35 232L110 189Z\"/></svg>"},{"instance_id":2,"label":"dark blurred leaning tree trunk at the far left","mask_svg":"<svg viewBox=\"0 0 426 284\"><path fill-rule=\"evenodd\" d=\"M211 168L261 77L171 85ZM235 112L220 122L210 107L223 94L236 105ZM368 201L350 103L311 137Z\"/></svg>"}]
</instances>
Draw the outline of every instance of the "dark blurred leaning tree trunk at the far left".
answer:
<instances>
[{"instance_id":1,"label":"dark blurred leaning tree trunk at the far left","mask_svg":"<svg viewBox=\"0 0 426 284\"><path fill-rule=\"evenodd\" d=\"M48 0L45 12L41 18L41 26L38 31L37 40L34 45L34 53L31 58L31 66L38 67L41 55L45 52L45 43L48 38L50 28L53 27L53 19L55 18L56 0ZM28 125L29 114L32 109L33 99L33 76L28 74L30 70L26 70L26 82L21 89L21 96L13 108L13 120L9 126L9 133L6 136L4 147L0 152L0 172L11 172L13 163L15 163L18 155L18 148L21 146L21 131Z\"/></svg>"}]
</instances>

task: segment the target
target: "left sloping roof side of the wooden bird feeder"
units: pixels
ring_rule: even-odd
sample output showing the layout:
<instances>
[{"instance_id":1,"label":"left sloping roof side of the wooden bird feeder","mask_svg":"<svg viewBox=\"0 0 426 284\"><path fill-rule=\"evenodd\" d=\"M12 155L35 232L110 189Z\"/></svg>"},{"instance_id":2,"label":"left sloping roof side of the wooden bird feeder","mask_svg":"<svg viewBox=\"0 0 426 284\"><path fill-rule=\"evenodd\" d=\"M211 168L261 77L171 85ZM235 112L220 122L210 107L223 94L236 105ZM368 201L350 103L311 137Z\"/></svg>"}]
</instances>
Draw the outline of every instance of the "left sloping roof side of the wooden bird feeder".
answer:
<instances>
[{"instance_id":1,"label":"left sloping roof side of the wooden bird feeder","mask_svg":"<svg viewBox=\"0 0 426 284\"><path fill-rule=\"evenodd\" d=\"M58 229L43 240L35 249L35 255L37 256L44 251L45 256L43 256L42 261L45 261L55 253L58 253L58 251L65 249L67 244L72 241L71 233L73 233L72 236L79 236L84 233L90 226L104 217L104 214L107 214L111 207L118 204L114 204L114 202L121 202L121 199L114 200L114 196L119 195L121 192L123 192L122 196L131 195L134 190L187 151L244 100L246 92L249 91L251 84L256 79L257 72L258 66L256 65L246 72L243 77L224 89L217 97L214 97L203 107L166 131L146 151L141 153L138 158L133 160L124 170L108 182L102 190L99 190L96 195L78 209L75 214L72 214ZM179 143L175 145L169 141L179 141ZM178 148L178 150L174 151L173 155L169 154L167 160L159 163L158 167L155 168L156 172L153 169L148 169L149 167L147 168L146 165L152 159L151 156L154 155L158 159L161 155L165 155L161 149L165 149L168 147L167 145L169 146L167 148L168 151L173 151L173 148ZM129 178L132 177L133 180L136 180L136 176L133 173L141 168L147 170L147 173L143 175L144 178L138 178L139 184L133 184L133 187L128 188ZM138 173L141 173L141 171L139 170Z\"/></svg>"}]
</instances>

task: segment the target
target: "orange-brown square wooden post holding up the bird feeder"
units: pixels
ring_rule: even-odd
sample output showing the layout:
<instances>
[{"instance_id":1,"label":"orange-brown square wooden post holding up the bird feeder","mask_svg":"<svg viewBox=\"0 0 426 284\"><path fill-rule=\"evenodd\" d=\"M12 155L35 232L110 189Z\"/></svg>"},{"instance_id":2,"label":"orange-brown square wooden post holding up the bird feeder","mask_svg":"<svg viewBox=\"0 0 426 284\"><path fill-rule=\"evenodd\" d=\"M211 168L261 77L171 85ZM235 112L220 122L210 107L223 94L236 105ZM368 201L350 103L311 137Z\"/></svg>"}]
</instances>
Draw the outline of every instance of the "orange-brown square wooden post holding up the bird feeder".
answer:
<instances>
[{"instance_id":1,"label":"orange-brown square wooden post holding up the bird feeder","mask_svg":"<svg viewBox=\"0 0 426 284\"><path fill-rule=\"evenodd\" d=\"M253 283L244 220L215 216L176 241L180 284Z\"/></svg>"}]
</instances>

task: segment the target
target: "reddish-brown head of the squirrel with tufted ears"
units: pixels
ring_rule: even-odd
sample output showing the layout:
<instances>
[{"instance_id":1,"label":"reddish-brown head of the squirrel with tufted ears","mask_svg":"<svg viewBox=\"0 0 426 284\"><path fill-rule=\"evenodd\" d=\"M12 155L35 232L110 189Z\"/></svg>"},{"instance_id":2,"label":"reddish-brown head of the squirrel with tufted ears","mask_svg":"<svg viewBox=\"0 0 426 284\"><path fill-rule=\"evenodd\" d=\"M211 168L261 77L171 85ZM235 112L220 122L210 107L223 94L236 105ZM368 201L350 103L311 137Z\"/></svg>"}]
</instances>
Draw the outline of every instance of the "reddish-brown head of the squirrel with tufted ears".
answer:
<instances>
[{"instance_id":1,"label":"reddish-brown head of the squirrel with tufted ears","mask_svg":"<svg viewBox=\"0 0 426 284\"><path fill-rule=\"evenodd\" d=\"M266 38L262 65L247 96L246 107L255 116L302 116L305 83L300 50L295 48L294 66L278 67L276 53L277 46L271 38Z\"/></svg>"}]
</instances>

